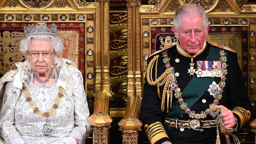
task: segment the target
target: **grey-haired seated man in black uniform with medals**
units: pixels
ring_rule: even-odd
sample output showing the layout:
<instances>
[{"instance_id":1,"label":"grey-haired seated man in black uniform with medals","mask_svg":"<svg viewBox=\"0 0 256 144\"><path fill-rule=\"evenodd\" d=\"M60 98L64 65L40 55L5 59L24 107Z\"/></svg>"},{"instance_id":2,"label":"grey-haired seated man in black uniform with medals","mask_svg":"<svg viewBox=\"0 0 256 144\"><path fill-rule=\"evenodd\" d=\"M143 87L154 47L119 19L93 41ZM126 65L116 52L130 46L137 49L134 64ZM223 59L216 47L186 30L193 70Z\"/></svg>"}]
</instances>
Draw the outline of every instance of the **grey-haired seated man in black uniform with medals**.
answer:
<instances>
[{"instance_id":1,"label":"grey-haired seated man in black uniform with medals","mask_svg":"<svg viewBox=\"0 0 256 144\"><path fill-rule=\"evenodd\" d=\"M252 113L237 54L205 41L210 25L201 6L175 14L175 46L148 59L140 119L151 144L225 144L215 118L238 131Z\"/></svg>"}]
</instances>

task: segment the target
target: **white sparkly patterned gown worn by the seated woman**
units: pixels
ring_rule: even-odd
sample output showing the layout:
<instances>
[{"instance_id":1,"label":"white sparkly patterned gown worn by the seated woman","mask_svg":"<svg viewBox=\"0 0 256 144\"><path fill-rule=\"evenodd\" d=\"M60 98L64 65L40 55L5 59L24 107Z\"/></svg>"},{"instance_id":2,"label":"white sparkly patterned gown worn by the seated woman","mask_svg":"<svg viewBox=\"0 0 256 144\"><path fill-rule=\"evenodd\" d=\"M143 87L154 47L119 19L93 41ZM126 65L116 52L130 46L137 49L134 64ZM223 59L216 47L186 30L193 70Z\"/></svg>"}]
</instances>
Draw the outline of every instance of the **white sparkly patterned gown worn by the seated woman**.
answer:
<instances>
[{"instance_id":1,"label":"white sparkly patterned gown worn by the seated woman","mask_svg":"<svg viewBox=\"0 0 256 144\"><path fill-rule=\"evenodd\" d=\"M56 74L56 81L57 77L58 74ZM56 114L48 117L52 129L50 135L43 134L46 117L39 118L22 94L15 105L15 96L12 93L13 82L7 83L0 113L0 135L4 139L4 144L10 144L13 138L22 138L28 144L53 144L60 142L64 137L77 138L82 143L82 139L87 137L91 131L88 122L90 114L81 77L79 73L72 75L75 82L74 107L67 94L63 92L61 103L55 111ZM27 85L32 101L35 101L36 106L44 112L51 109L59 92L56 83L43 88L33 84L32 81L33 73Z\"/></svg>"}]
</instances>

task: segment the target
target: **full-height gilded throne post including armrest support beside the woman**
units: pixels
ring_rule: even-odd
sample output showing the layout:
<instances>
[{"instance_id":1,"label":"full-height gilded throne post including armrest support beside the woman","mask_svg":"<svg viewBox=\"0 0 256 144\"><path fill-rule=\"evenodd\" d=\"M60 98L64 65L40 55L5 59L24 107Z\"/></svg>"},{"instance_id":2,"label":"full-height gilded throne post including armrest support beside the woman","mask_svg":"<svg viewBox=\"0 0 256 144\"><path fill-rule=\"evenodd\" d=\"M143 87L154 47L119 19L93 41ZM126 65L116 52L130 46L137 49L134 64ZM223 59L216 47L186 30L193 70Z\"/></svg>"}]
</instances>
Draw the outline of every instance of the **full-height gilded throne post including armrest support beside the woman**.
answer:
<instances>
[{"instance_id":1,"label":"full-height gilded throne post including armrest support beside the woman","mask_svg":"<svg viewBox=\"0 0 256 144\"><path fill-rule=\"evenodd\" d=\"M93 128L93 144L108 144L112 118L108 115L109 97L109 0L95 0L95 102L89 124ZM103 21L103 22L102 22Z\"/></svg>"}]
</instances>

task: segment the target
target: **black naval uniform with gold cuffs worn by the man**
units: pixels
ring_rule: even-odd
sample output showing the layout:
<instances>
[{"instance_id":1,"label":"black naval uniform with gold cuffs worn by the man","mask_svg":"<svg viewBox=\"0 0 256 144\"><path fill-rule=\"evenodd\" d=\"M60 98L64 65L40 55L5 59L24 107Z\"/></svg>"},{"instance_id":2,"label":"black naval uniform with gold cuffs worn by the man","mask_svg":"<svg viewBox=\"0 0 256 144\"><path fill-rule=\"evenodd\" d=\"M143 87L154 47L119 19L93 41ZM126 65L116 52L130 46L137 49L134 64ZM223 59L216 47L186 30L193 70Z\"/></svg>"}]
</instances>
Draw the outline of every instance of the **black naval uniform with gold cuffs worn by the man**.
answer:
<instances>
[{"instance_id":1,"label":"black naval uniform with gold cuffs worn by the man","mask_svg":"<svg viewBox=\"0 0 256 144\"><path fill-rule=\"evenodd\" d=\"M206 42L206 48L203 50L201 54L194 58L195 69L197 68L197 61L205 61L209 55L210 48L216 48L218 50L224 50L217 46L213 46L210 43ZM157 78L165 72L166 67L165 63L163 63L163 52L166 51L168 57L170 58L169 63L172 67L174 67L175 73L178 72L179 76L176 77L178 87L180 91L184 90L189 81L193 77L196 77L196 74L191 75L187 69L189 69L189 63L191 63L190 57L185 57L181 55L175 46L171 48L167 48L158 52L154 55L151 55L148 58L148 63L155 55L159 55L157 64L155 63L152 67L152 79L155 78L155 71L157 71ZM228 50L224 50L228 65L226 69L228 70L228 74L226 74L225 87L223 88L222 98L219 101L218 105L224 105L230 110L233 110L234 116L237 118L237 130L244 126L249 118L251 113L251 108L249 104L249 98L247 95L247 90L244 86L244 82L241 75L241 69L239 67L237 61L237 54L235 52L230 52ZM175 59L179 59L178 63ZM218 60L218 59L215 59ZM157 69L157 70L155 70ZM214 81L218 84L221 81L221 78L214 78ZM201 83L201 86L205 85ZM160 87L160 96L163 94L163 86ZM200 89L200 85L197 87ZM206 102L203 103L202 100L205 99ZM204 101L205 101L204 100ZM210 92L207 90L204 94L195 102L190 108L196 113L200 113L201 111L205 111L206 108L209 108L209 105L213 103L213 96L210 95ZM193 129L183 129L181 131L180 128L169 127L165 124L164 118L172 118L178 120L191 120L189 114L183 113L180 115L176 115L175 106L180 105L178 103L178 99L174 97L172 98L172 107L169 107L169 113L167 113L167 103L165 102L165 111L161 112L161 99L158 96L158 88L155 85L149 85L147 81L147 76L145 78L144 91L143 91L143 99L141 103L140 110L140 119L145 126L146 134L153 144L162 144L165 141L172 142L173 144L215 144L216 141L216 127L212 128L204 128L204 131L196 131ZM184 102L186 99L184 98ZM184 111L184 110L183 110ZM195 119L195 118L193 118ZM211 117L209 114L206 118L200 120L214 120L215 118ZM221 144L226 143L226 140L223 135L220 134Z\"/></svg>"}]
</instances>

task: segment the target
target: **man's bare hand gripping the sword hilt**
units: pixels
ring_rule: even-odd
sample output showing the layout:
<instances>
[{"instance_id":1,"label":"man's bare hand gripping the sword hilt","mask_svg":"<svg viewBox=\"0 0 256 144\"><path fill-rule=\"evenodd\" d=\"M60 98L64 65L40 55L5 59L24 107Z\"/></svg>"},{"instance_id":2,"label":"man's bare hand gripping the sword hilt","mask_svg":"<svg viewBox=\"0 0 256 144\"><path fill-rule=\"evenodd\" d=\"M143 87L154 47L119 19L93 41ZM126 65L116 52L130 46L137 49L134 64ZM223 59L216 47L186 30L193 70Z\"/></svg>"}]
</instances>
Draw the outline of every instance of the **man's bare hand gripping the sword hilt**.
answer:
<instances>
[{"instance_id":1,"label":"man's bare hand gripping the sword hilt","mask_svg":"<svg viewBox=\"0 0 256 144\"><path fill-rule=\"evenodd\" d=\"M236 125L236 118L232 111L224 107L223 105L217 106L217 109L221 110L224 109L223 113L221 113L222 121L225 127L232 128Z\"/></svg>"}]
</instances>

